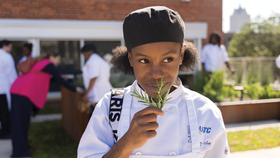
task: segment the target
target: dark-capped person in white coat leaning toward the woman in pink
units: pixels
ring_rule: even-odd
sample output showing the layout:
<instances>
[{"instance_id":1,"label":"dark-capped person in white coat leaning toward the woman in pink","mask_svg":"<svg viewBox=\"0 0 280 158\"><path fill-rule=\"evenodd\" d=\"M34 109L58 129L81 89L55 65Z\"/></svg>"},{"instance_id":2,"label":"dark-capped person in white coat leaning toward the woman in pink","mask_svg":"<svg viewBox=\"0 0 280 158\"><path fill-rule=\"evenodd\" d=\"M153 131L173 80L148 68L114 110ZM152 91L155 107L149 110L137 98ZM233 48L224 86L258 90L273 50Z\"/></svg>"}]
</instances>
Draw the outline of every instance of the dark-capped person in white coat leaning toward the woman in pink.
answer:
<instances>
[{"instance_id":1,"label":"dark-capped person in white coat leaning toward the woman in pink","mask_svg":"<svg viewBox=\"0 0 280 158\"><path fill-rule=\"evenodd\" d=\"M93 44L86 44L81 50L86 63L83 66L83 84L87 90L83 102L90 105L90 116L99 100L113 88L110 83L111 67L97 53Z\"/></svg>"}]
</instances>

